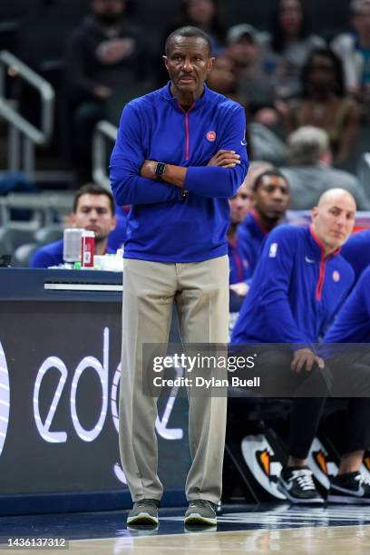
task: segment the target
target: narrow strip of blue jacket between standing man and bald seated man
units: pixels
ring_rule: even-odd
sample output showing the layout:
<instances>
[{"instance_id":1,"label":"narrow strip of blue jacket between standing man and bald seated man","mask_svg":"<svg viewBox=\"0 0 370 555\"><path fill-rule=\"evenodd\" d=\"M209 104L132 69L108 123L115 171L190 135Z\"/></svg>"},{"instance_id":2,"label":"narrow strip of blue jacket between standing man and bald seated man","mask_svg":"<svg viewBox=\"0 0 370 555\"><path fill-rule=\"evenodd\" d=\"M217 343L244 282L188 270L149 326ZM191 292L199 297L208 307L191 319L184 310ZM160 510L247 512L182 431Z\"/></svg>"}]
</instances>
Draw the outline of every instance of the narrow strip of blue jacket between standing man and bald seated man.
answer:
<instances>
[{"instance_id":1,"label":"narrow strip of blue jacket between standing man and bald seated man","mask_svg":"<svg viewBox=\"0 0 370 555\"><path fill-rule=\"evenodd\" d=\"M248 260L247 277L252 277L267 237L268 231L261 228L255 211L251 210L238 228L239 248Z\"/></svg>"}]
</instances>

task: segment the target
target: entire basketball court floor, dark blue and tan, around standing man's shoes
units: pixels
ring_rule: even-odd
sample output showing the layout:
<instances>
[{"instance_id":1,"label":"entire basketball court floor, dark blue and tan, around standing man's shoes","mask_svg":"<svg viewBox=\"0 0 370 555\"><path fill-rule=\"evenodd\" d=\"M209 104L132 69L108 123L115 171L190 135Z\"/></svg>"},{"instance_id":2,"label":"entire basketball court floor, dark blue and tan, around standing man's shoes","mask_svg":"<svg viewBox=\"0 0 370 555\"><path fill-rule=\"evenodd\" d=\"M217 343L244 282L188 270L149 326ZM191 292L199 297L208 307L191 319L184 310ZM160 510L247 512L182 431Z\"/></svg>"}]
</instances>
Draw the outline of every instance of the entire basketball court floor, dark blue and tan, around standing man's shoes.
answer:
<instances>
[{"instance_id":1,"label":"entire basketball court floor, dark blue and tan, around standing man's shoes","mask_svg":"<svg viewBox=\"0 0 370 555\"><path fill-rule=\"evenodd\" d=\"M370 506L223 505L215 529L186 529L184 511L161 509L157 529L128 529L127 511L1 517L0 553L33 551L9 548L8 538L65 538L62 552L73 555L370 553Z\"/></svg>"}]
</instances>

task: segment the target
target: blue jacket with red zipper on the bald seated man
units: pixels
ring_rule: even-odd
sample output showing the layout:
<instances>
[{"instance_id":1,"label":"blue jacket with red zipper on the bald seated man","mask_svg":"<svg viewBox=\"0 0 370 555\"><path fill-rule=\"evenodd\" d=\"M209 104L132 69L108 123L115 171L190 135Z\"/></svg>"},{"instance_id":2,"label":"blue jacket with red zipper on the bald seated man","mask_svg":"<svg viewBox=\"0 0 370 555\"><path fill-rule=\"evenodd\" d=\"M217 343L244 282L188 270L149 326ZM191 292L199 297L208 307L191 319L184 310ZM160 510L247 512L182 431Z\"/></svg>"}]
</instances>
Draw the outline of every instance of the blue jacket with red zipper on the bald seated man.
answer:
<instances>
[{"instance_id":1,"label":"blue jacket with red zipper on the bald seated man","mask_svg":"<svg viewBox=\"0 0 370 555\"><path fill-rule=\"evenodd\" d=\"M312 228L279 226L268 235L231 341L315 343L353 280L339 254L324 258Z\"/></svg>"}]
</instances>

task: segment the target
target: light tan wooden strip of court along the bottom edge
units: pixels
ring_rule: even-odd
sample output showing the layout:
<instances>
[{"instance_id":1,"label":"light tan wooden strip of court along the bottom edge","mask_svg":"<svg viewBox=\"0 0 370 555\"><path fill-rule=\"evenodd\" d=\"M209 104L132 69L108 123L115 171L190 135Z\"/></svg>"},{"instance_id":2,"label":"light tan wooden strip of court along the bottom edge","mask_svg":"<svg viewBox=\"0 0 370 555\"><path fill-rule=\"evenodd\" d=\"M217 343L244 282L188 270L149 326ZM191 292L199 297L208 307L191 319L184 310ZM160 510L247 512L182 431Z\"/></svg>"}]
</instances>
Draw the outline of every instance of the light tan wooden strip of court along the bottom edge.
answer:
<instances>
[{"instance_id":1,"label":"light tan wooden strip of court along the bottom edge","mask_svg":"<svg viewBox=\"0 0 370 555\"><path fill-rule=\"evenodd\" d=\"M0 550L2 553L15 550ZM57 550L42 550L55 555ZM30 550L16 550L30 553ZM31 551L32 552L32 551ZM63 552L63 551L62 551ZM65 551L64 551L65 552ZM258 530L232 532L192 532L186 535L141 538L106 538L72 540L67 553L73 555L240 555L273 553L275 555L357 555L370 553L370 526L336 528L301 528L296 530Z\"/></svg>"}]
</instances>

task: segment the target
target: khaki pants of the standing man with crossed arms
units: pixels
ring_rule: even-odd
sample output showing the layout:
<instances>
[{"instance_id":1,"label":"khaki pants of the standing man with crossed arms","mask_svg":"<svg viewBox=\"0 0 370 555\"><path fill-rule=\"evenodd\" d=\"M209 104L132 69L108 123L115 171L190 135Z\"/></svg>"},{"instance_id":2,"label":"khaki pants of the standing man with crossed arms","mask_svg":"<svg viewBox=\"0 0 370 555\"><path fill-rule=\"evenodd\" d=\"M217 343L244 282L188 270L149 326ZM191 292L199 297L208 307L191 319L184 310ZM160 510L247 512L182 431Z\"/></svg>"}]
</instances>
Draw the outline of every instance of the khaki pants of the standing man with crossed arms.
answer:
<instances>
[{"instance_id":1,"label":"khaki pants of the standing man with crossed arms","mask_svg":"<svg viewBox=\"0 0 370 555\"><path fill-rule=\"evenodd\" d=\"M133 501L161 499L154 424L157 404L143 394L142 344L167 344L175 301L183 343L228 342L229 258L170 264L124 259L120 453ZM190 397L189 501L217 503L225 445L225 397ZM176 467L174 467L174 472Z\"/></svg>"}]
</instances>

